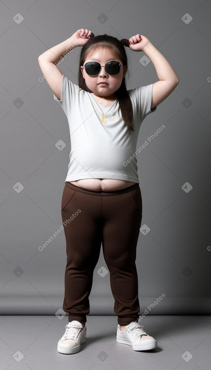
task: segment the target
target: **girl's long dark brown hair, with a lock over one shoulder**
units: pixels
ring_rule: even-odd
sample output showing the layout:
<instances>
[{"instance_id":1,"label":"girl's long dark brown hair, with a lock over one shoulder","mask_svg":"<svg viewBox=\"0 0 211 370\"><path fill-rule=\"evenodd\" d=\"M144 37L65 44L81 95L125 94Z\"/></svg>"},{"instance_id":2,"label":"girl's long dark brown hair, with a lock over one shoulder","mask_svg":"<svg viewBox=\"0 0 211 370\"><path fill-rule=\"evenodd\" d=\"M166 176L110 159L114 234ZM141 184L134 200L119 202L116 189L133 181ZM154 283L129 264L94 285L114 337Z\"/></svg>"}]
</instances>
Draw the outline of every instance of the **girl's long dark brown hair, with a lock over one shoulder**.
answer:
<instances>
[{"instance_id":1,"label":"girl's long dark brown hair, with a lock over one shoulder","mask_svg":"<svg viewBox=\"0 0 211 370\"><path fill-rule=\"evenodd\" d=\"M81 66L84 65L86 57L91 50L95 50L99 46L109 47L110 49L114 50L117 53L118 57L123 63L123 66L127 66L127 55L124 48L124 44L126 45L125 42L123 43L123 39L121 42L116 37L109 36L107 34L91 37L81 49L78 75L79 87L90 93L92 92L87 87L80 68ZM132 128L132 104L126 89L125 77L122 78L121 86L117 91L115 91L115 95L119 103L119 109L121 109L121 115L125 125L127 126L129 131L134 131Z\"/></svg>"}]
</instances>

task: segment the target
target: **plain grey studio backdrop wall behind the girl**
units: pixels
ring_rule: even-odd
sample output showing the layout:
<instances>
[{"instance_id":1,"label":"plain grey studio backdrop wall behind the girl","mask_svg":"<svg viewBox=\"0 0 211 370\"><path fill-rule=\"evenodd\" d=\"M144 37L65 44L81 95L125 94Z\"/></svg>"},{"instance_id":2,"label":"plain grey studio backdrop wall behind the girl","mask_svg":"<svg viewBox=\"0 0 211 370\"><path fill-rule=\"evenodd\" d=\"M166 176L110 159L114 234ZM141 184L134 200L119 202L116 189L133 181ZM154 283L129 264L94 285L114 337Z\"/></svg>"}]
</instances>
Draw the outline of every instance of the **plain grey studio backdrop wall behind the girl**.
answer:
<instances>
[{"instance_id":1,"label":"plain grey studio backdrop wall behind the girl","mask_svg":"<svg viewBox=\"0 0 211 370\"><path fill-rule=\"evenodd\" d=\"M179 76L174 92L143 121L137 142L166 126L137 156L142 226L150 228L137 244L140 315L210 314L210 3L8 0L0 10L1 314L64 314L64 232L38 247L62 224L71 148L67 118L46 81L38 81L37 58L79 28L119 39L143 34ZM74 83L80 50L59 66ZM126 52L127 89L158 81L153 64L140 63L143 52ZM101 267L107 270L102 249L90 315L114 315L109 273L102 277Z\"/></svg>"}]
</instances>

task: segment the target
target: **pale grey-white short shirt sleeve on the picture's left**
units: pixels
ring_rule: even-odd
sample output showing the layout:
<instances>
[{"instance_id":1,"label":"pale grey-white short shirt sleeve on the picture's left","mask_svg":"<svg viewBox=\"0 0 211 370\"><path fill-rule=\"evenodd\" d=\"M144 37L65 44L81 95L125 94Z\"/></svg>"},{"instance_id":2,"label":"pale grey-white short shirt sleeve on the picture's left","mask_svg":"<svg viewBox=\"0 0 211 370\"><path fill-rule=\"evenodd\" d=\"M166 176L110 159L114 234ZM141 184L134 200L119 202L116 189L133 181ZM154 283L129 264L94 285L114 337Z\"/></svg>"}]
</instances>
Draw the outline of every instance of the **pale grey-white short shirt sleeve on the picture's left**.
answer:
<instances>
[{"instance_id":1,"label":"pale grey-white short shirt sleeve on the picture's left","mask_svg":"<svg viewBox=\"0 0 211 370\"><path fill-rule=\"evenodd\" d=\"M58 101L66 115L71 112L71 107L75 104L79 90L80 89L78 85L75 85L66 76L62 75L60 100L57 99L54 93L53 97L56 101Z\"/></svg>"}]
</instances>

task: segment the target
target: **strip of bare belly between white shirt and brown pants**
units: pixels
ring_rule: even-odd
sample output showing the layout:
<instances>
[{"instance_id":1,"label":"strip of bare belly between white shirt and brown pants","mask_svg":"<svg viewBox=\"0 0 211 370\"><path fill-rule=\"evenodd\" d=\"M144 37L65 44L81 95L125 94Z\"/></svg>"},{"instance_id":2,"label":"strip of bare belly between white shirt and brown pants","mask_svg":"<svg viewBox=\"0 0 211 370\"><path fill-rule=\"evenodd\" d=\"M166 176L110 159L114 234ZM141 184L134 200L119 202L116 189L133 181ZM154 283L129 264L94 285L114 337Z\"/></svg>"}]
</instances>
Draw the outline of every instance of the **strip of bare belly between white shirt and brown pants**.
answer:
<instances>
[{"instance_id":1,"label":"strip of bare belly between white shirt and brown pants","mask_svg":"<svg viewBox=\"0 0 211 370\"><path fill-rule=\"evenodd\" d=\"M113 178L83 178L77 181L69 181L79 188L93 191L112 192L115 190L125 189L136 182L117 180Z\"/></svg>"}]
</instances>

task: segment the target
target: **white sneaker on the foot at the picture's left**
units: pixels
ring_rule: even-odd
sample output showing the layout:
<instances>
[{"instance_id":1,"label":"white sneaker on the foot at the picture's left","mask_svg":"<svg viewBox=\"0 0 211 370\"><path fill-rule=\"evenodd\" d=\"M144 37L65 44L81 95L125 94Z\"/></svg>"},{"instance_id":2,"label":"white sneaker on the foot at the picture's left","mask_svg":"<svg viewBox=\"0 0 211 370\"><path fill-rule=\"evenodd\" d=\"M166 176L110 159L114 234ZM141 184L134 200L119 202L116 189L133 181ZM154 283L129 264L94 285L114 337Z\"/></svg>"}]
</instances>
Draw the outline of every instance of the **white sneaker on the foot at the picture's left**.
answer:
<instances>
[{"instance_id":1,"label":"white sneaker on the foot at the picture's left","mask_svg":"<svg viewBox=\"0 0 211 370\"><path fill-rule=\"evenodd\" d=\"M64 335L58 341L57 351L66 354L79 352L81 344L86 342L87 326L84 329L79 321L74 320L68 322L65 329Z\"/></svg>"}]
</instances>

